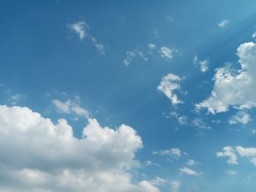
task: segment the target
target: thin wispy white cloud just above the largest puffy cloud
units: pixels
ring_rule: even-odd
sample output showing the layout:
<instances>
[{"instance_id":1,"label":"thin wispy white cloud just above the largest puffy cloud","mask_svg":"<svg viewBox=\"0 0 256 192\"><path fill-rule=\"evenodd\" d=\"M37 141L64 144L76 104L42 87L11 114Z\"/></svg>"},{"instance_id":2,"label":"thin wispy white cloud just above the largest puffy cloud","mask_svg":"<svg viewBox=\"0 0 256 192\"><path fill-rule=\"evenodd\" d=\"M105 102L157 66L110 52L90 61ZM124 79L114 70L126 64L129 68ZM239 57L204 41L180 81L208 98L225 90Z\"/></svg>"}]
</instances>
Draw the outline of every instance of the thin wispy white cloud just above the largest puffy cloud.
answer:
<instances>
[{"instance_id":1,"label":"thin wispy white cloud just above the largest puffy cloud","mask_svg":"<svg viewBox=\"0 0 256 192\"><path fill-rule=\"evenodd\" d=\"M83 107L80 107L79 96L75 96L74 100L68 99L67 101L61 102L58 99L55 99L52 102L59 112L89 118L89 112Z\"/></svg>"}]
</instances>

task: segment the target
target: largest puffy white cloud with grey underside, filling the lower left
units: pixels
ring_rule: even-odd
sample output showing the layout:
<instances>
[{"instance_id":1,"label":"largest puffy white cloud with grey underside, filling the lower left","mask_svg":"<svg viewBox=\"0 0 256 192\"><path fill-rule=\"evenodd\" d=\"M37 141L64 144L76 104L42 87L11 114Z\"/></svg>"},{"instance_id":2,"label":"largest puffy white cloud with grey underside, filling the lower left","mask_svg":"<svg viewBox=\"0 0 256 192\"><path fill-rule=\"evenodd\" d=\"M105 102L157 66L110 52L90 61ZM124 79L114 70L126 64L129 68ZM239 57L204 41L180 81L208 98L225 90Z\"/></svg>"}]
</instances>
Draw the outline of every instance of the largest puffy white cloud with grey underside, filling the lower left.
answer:
<instances>
[{"instance_id":1,"label":"largest puffy white cloud with grey underside, filling the lower left","mask_svg":"<svg viewBox=\"0 0 256 192\"><path fill-rule=\"evenodd\" d=\"M143 147L136 131L116 130L89 119L83 138L60 119L53 124L26 107L0 106L0 191L159 192L146 180L132 183Z\"/></svg>"}]
</instances>

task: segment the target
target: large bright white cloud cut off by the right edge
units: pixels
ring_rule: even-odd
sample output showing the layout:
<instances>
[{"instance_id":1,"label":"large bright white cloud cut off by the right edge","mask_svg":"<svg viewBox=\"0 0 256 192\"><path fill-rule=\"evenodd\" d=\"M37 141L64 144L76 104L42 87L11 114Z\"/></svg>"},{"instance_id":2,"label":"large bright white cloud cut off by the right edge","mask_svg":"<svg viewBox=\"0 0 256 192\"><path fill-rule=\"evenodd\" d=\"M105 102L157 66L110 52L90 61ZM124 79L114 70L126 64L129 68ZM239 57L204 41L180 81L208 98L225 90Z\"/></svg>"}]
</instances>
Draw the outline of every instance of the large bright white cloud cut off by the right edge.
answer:
<instances>
[{"instance_id":1,"label":"large bright white cloud cut off by the right edge","mask_svg":"<svg viewBox=\"0 0 256 192\"><path fill-rule=\"evenodd\" d=\"M217 69L214 89L208 99L196 104L197 110L206 108L208 112L226 112L229 107L249 109L256 106L256 44L248 42L240 45L237 55L241 70L226 65Z\"/></svg>"}]
</instances>

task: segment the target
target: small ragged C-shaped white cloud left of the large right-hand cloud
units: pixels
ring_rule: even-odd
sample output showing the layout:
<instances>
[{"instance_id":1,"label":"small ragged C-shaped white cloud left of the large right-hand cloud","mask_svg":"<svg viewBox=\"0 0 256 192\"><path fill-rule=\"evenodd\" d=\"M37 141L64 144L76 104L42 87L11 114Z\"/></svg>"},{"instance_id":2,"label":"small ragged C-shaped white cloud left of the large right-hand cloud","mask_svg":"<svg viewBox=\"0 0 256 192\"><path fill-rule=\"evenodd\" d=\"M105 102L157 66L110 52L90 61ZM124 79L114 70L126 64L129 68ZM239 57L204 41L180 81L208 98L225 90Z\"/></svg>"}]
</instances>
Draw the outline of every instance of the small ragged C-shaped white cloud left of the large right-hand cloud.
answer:
<instances>
[{"instance_id":1,"label":"small ragged C-shaped white cloud left of the large right-hand cloud","mask_svg":"<svg viewBox=\"0 0 256 192\"><path fill-rule=\"evenodd\" d=\"M179 82L183 79L184 78L178 77L176 74L167 74L165 77L162 77L162 81L157 86L157 89L165 93L165 96L170 99L173 105L183 103L183 101L178 100L178 96L173 93L173 91L181 89Z\"/></svg>"}]
</instances>

